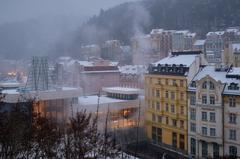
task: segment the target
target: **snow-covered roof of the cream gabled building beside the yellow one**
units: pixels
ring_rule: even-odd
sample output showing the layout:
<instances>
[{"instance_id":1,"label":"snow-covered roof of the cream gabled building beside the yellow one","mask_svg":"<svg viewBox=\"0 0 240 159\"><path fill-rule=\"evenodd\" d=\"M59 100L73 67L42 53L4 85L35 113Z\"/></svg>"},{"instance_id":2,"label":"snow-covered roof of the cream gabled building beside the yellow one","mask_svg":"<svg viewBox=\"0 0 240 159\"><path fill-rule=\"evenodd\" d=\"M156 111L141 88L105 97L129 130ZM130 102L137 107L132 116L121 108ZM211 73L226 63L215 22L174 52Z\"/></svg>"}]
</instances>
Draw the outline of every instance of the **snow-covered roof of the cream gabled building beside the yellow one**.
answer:
<instances>
[{"instance_id":1,"label":"snow-covered roof of the cream gabled building beside the yellow one","mask_svg":"<svg viewBox=\"0 0 240 159\"><path fill-rule=\"evenodd\" d=\"M227 78L227 71L215 71L215 66L209 65L204 67L193 79L193 81L201 80L205 76L209 75L215 81L221 81L222 83L235 82L235 79Z\"/></svg>"}]
</instances>

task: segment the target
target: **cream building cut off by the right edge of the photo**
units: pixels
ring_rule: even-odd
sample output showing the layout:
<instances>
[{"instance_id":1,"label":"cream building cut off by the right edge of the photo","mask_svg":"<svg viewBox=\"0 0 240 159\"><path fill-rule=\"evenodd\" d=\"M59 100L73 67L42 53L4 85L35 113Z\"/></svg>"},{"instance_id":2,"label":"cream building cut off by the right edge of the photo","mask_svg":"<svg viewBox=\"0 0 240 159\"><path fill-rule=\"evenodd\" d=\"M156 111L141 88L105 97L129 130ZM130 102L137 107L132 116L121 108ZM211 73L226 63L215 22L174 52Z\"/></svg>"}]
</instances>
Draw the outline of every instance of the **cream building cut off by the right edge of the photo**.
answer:
<instances>
[{"instance_id":1,"label":"cream building cut off by the right edge of the photo","mask_svg":"<svg viewBox=\"0 0 240 159\"><path fill-rule=\"evenodd\" d=\"M224 155L240 157L240 69L232 68L227 78L235 81L226 83L223 92L224 106Z\"/></svg>"}]
</instances>

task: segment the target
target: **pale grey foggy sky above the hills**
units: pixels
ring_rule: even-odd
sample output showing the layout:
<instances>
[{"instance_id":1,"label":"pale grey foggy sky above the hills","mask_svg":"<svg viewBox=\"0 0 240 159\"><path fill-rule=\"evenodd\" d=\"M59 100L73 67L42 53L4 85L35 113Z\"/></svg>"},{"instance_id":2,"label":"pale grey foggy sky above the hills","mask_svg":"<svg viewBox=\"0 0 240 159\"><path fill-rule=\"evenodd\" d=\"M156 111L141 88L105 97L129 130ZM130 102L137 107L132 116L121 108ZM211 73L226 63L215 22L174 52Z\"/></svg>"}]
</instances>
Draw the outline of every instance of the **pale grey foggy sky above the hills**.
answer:
<instances>
[{"instance_id":1,"label":"pale grey foggy sky above the hills","mask_svg":"<svg viewBox=\"0 0 240 159\"><path fill-rule=\"evenodd\" d=\"M130 1L136 0L0 0L0 24L41 16L92 16Z\"/></svg>"}]
</instances>

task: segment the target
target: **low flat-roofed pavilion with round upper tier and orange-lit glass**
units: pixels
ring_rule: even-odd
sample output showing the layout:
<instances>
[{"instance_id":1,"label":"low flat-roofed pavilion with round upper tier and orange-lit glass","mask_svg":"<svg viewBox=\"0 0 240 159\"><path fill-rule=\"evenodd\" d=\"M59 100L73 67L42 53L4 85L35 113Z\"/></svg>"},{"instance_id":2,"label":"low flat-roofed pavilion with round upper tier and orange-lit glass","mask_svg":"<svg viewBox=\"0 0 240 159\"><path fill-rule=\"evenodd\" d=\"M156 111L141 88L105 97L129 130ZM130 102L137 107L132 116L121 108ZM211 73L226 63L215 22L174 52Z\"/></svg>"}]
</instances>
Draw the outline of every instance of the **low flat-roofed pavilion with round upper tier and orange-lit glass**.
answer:
<instances>
[{"instance_id":1,"label":"low flat-roofed pavilion with round upper tier and orange-lit glass","mask_svg":"<svg viewBox=\"0 0 240 159\"><path fill-rule=\"evenodd\" d=\"M104 95L79 97L79 104L74 107L73 111L77 112L86 109L87 112L96 114L98 110L99 130L105 127L108 110L108 127L111 130L136 127L138 121L140 126L143 125L143 112L145 108L144 97L140 95L140 89L105 87L101 94Z\"/></svg>"}]
</instances>

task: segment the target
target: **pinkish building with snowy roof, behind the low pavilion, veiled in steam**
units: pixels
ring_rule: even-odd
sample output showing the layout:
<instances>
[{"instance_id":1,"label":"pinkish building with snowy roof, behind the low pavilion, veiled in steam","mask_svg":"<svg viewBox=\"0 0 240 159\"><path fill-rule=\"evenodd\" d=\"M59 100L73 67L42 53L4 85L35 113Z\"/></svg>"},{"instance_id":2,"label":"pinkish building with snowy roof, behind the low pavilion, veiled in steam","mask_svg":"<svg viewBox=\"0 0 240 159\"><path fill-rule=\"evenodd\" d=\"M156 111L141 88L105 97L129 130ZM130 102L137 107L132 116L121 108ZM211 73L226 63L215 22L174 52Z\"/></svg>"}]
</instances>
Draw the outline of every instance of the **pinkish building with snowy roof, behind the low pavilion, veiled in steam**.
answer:
<instances>
[{"instance_id":1,"label":"pinkish building with snowy roof, behind the low pavilion, veiled in steam","mask_svg":"<svg viewBox=\"0 0 240 159\"><path fill-rule=\"evenodd\" d=\"M97 58L91 61L70 60L64 65L65 85L81 87L84 95L97 94L102 87L120 85L118 62Z\"/></svg>"}]
</instances>

